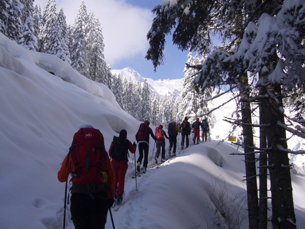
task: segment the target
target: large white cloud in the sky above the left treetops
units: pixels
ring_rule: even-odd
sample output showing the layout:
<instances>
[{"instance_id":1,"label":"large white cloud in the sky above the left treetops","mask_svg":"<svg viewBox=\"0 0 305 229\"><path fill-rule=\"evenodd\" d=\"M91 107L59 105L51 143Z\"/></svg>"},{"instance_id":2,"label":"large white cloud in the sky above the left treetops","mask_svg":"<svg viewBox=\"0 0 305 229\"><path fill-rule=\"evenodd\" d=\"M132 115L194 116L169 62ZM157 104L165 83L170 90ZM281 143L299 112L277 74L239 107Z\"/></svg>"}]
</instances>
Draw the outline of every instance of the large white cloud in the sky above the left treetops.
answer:
<instances>
[{"instance_id":1,"label":"large white cloud in the sky above the left treetops","mask_svg":"<svg viewBox=\"0 0 305 229\"><path fill-rule=\"evenodd\" d=\"M73 24L81 0L73 0L73 4L72 1L55 2L57 11L63 8L67 23ZM34 5L40 5L43 12L46 3L47 0L36 0ZM84 3L87 11L93 11L101 23L108 64L145 55L148 48L146 35L153 21L150 9L133 6L125 0L86 0Z\"/></svg>"}]
</instances>

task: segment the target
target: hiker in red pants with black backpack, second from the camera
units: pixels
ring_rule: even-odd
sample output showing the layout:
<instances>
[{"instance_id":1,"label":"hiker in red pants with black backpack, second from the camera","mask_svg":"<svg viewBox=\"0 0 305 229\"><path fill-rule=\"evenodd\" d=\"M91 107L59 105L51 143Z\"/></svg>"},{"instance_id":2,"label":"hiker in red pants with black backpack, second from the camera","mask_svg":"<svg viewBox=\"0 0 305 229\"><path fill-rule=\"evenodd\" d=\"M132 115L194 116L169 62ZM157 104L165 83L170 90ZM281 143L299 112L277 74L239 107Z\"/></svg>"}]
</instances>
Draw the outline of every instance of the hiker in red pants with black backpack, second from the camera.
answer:
<instances>
[{"instance_id":1,"label":"hiker in red pants with black backpack, second from the camera","mask_svg":"<svg viewBox=\"0 0 305 229\"><path fill-rule=\"evenodd\" d=\"M127 139L127 131L121 130L119 136L113 136L109 148L109 156L111 157L111 164L115 174L115 194L116 204L120 205L123 200L125 175L128 168L128 150L134 154L137 145L133 144Z\"/></svg>"}]
</instances>

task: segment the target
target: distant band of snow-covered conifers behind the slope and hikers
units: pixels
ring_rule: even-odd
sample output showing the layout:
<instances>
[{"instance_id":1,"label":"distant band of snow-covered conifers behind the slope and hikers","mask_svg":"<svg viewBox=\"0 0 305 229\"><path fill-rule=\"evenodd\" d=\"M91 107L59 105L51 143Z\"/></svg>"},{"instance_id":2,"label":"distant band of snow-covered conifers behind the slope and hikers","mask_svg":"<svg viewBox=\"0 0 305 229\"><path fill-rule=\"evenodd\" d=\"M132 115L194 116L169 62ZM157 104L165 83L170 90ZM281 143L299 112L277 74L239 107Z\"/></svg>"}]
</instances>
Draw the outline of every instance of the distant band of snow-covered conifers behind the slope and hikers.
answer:
<instances>
[{"instance_id":1,"label":"distant band of snow-covered conifers behind the slope and hikers","mask_svg":"<svg viewBox=\"0 0 305 229\"><path fill-rule=\"evenodd\" d=\"M140 77L133 83L121 75L112 75L103 54L101 24L92 11L87 12L83 1L73 25L67 25L62 8L56 11L54 0L47 1L43 12L33 2L1 1L0 32L29 50L56 55L87 78L104 83L121 108L135 119L167 126L169 122L180 122L186 116L195 118L206 111L207 103L199 103L201 96L191 89L192 70L185 70L184 91L178 97L158 95ZM190 53L188 63L200 61L200 56Z\"/></svg>"}]
</instances>

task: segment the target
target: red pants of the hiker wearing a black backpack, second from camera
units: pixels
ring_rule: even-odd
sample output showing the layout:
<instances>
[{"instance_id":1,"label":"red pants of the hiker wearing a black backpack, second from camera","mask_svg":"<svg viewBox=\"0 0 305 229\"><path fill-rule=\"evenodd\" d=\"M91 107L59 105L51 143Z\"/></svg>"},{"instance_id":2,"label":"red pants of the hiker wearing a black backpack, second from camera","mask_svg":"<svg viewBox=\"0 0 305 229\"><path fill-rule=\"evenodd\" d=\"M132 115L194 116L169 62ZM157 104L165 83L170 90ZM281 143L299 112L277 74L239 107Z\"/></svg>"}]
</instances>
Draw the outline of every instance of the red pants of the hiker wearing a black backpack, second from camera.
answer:
<instances>
[{"instance_id":1,"label":"red pants of the hiker wearing a black backpack, second from camera","mask_svg":"<svg viewBox=\"0 0 305 229\"><path fill-rule=\"evenodd\" d=\"M115 174L115 187L117 188L117 194L123 195L124 186L125 186L125 175L128 168L128 162L112 159L111 164Z\"/></svg>"}]
</instances>

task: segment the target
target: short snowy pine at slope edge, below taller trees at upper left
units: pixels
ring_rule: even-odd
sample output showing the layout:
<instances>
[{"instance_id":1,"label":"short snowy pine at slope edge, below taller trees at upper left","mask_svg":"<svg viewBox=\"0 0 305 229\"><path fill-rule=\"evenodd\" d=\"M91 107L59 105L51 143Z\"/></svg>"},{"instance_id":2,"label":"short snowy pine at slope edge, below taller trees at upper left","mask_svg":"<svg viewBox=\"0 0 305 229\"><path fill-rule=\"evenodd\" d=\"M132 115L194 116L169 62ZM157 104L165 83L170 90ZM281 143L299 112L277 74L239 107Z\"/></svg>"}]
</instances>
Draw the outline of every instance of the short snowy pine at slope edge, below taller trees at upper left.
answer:
<instances>
[{"instance_id":1,"label":"short snowy pine at slope edge, below taller trees at upper left","mask_svg":"<svg viewBox=\"0 0 305 229\"><path fill-rule=\"evenodd\" d=\"M37 38L35 36L32 16L28 16L26 18L22 33L20 34L18 44L29 50L34 50L34 51L37 50L38 43L37 43Z\"/></svg>"}]
</instances>

